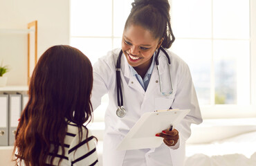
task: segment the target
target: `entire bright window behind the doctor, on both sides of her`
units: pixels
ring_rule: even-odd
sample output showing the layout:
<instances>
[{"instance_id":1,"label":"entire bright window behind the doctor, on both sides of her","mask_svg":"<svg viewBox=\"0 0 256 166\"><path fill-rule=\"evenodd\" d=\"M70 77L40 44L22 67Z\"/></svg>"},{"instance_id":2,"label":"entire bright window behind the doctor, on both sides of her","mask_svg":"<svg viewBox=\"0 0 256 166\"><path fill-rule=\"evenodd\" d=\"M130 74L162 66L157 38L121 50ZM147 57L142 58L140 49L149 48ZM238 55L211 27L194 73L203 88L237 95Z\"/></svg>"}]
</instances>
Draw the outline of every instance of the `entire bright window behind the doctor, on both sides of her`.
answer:
<instances>
[{"instance_id":1,"label":"entire bright window behind the doctor, on both sides of her","mask_svg":"<svg viewBox=\"0 0 256 166\"><path fill-rule=\"evenodd\" d=\"M120 47L132 1L71 0L71 46L82 50L92 64ZM255 115L256 2L170 0L170 4L176 37L171 50L190 66L203 117ZM103 101L107 104L107 97Z\"/></svg>"}]
</instances>

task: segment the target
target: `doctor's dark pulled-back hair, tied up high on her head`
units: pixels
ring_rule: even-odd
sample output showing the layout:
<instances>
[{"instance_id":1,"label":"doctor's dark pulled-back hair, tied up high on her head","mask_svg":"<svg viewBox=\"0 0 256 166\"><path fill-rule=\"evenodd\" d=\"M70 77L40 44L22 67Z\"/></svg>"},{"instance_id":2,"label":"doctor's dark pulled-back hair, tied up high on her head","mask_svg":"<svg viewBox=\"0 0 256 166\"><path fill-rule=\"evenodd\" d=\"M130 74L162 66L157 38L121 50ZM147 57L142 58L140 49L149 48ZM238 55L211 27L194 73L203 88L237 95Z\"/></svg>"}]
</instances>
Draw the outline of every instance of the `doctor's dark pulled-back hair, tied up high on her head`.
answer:
<instances>
[{"instance_id":1,"label":"doctor's dark pulled-back hair, tied up high on her head","mask_svg":"<svg viewBox=\"0 0 256 166\"><path fill-rule=\"evenodd\" d=\"M134 24L151 31L154 39L162 39L163 48L170 48L175 40L170 24L168 0L134 0L125 29Z\"/></svg>"}]
</instances>

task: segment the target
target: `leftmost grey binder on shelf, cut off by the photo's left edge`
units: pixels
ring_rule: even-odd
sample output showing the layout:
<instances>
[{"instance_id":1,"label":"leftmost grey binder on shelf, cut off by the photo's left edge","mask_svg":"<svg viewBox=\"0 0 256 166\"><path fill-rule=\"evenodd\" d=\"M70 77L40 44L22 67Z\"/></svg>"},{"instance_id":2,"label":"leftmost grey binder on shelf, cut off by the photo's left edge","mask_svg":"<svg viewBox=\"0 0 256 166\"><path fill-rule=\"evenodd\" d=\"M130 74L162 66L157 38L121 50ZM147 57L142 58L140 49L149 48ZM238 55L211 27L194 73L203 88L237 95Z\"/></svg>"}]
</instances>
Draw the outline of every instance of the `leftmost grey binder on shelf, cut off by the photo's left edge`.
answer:
<instances>
[{"instance_id":1,"label":"leftmost grey binder on shelf, cut off by the photo's left edge","mask_svg":"<svg viewBox=\"0 0 256 166\"><path fill-rule=\"evenodd\" d=\"M0 95L0 146L8 146L8 95Z\"/></svg>"}]
</instances>

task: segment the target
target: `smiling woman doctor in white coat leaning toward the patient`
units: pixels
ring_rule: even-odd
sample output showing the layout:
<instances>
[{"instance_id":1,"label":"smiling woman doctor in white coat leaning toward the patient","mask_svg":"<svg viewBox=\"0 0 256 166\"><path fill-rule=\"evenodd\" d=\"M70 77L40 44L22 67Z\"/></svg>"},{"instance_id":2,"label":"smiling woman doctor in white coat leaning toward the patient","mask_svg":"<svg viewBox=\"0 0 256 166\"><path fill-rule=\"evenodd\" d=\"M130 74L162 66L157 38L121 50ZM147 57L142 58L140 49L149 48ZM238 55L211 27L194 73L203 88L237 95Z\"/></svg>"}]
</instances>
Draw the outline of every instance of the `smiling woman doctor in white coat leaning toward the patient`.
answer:
<instances>
[{"instance_id":1,"label":"smiling woman doctor in white coat leaning toward the patient","mask_svg":"<svg viewBox=\"0 0 256 166\"><path fill-rule=\"evenodd\" d=\"M103 165L181 166L190 124L199 124L202 118L188 65L167 50L174 42L170 4L135 0L131 5L122 49L110 51L93 66L93 109L100 105L102 95L109 95ZM190 113L172 131L156 133L164 138L160 147L116 150L143 113L170 108L190 109Z\"/></svg>"}]
</instances>

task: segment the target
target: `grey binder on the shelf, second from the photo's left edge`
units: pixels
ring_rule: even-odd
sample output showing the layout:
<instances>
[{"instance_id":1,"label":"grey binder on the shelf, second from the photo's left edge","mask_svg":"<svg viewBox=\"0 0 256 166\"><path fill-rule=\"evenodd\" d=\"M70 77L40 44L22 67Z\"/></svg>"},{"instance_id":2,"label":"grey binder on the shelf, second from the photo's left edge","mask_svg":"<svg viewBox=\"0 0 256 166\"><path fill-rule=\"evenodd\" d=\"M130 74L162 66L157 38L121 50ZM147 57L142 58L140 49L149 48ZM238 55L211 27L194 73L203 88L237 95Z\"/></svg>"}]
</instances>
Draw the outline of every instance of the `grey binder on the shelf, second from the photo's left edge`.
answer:
<instances>
[{"instance_id":1,"label":"grey binder on the shelf, second from the photo's left edge","mask_svg":"<svg viewBox=\"0 0 256 166\"><path fill-rule=\"evenodd\" d=\"M9 145L14 145L15 135L21 116L21 94L9 95Z\"/></svg>"}]
</instances>

